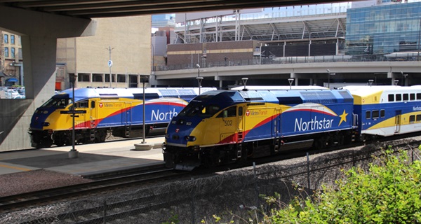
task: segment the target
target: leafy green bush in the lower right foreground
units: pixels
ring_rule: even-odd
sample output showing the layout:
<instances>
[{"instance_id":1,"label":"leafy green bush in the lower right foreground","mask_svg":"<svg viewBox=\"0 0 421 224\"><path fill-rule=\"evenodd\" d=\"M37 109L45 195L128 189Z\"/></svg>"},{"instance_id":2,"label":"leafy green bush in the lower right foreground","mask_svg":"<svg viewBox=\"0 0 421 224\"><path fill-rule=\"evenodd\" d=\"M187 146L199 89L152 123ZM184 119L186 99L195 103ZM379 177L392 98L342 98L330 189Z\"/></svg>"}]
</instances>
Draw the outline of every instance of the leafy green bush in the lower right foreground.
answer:
<instances>
[{"instance_id":1,"label":"leafy green bush in the lower right foreground","mask_svg":"<svg viewBox=\"0 0 421 224\"><path fill-rule=\"evenodd\" d=\"M420 146L421 147L421 146ZM295 197L263 223L421 223L421 162L389 149L369 172L354 167L337 186Z\"/></svg>"}]
</instances>

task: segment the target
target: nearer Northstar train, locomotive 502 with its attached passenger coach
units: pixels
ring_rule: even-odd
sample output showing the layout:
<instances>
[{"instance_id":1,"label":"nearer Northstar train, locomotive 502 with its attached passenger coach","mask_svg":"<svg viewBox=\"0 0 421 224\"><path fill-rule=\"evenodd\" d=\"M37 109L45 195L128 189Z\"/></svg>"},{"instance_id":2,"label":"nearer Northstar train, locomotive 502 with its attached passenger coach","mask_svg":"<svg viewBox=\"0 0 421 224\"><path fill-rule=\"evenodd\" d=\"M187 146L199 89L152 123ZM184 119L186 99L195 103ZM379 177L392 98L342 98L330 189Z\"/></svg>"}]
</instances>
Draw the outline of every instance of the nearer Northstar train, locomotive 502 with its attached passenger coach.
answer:
<instances>
[{"instance_id":1,"label":"nearer Northstar train, locomotive 502 with its attached passenger coach","mask_svg":"<svg viewBox=\"0 0 421 224\"><path fill-rule=\"evenodd\" d=\"M173 117L163 155L167 167L191 170L417 131L420 86L215 90Z\"/></svg>"}]
</instances>

